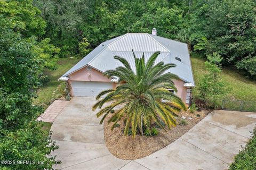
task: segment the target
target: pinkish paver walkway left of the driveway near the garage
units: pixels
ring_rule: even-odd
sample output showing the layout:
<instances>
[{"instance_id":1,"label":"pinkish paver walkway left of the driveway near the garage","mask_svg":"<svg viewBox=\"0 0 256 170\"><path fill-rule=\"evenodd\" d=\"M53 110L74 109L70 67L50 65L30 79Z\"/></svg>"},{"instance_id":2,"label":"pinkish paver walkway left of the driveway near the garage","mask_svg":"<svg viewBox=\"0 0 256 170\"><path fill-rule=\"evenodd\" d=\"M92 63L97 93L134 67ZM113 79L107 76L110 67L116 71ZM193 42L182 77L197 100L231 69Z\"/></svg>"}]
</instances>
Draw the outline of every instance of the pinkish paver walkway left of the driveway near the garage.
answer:
<instances>
[{"instance_id":1,"label":"pinkish paver walkway left of the driveway near the garage","mask_svg":"<svg viewBox=\"0 0 256 170\"><path fill-rule=\"evenodd\" d=\"M37 121L52 123L68 102L66 100L54 100L44 113L37 118Z\"/></svg>"}]
</instances>

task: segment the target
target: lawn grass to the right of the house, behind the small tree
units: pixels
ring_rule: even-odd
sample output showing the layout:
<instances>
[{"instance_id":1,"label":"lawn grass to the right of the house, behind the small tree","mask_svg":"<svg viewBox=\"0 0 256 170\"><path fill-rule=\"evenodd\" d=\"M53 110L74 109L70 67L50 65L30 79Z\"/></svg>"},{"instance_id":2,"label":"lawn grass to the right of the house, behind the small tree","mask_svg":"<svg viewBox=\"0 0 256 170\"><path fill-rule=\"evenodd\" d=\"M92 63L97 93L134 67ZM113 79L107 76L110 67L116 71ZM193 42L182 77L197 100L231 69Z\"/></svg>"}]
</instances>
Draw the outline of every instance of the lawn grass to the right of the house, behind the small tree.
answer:
<instances>
[{"instance_id":1,"label":"lawn grass to the right of the house, behind the small tree","mask_svg":"<svg viewBox=\"0 0 256 170\"><path fill-rule=\"evenodd\" d=\"M193 89L193 96L198 97L199 91L197 85L199 80L207 73L204 67L205 59L198 53L191 54L191 63L193 67L196 87ZM241 71L233 67L223 67L221 78L231 89L230 98L235 100L245 100L245 107L255 108L256 110L256 82L246 78ZM249 102L250 101L250 102ZM239 107L238 103L233 103L234 107Z\"/></svg>"}]
</instances>

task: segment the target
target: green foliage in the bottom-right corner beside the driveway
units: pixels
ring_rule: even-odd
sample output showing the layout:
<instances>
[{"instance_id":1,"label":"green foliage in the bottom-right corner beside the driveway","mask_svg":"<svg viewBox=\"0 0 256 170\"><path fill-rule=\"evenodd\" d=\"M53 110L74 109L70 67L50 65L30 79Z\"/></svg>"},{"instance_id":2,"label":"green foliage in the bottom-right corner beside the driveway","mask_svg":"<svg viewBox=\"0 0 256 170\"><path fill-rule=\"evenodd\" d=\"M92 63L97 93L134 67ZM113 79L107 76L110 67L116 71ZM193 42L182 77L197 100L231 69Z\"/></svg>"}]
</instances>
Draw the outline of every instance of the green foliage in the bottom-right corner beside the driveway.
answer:
<instances>
[{"instance_id":1,"label":"green foliage in the bottom-right corner beside the driveway","mask_svg":"<svg viewBox=\"0 0 256 170\"><path fill-rule=\"evenodd\" d=\"M254 170L256 169L256 128L253 137L239 154L235 156L234 162L230 165L230 170Z\"/></svg>"}]
</instances>

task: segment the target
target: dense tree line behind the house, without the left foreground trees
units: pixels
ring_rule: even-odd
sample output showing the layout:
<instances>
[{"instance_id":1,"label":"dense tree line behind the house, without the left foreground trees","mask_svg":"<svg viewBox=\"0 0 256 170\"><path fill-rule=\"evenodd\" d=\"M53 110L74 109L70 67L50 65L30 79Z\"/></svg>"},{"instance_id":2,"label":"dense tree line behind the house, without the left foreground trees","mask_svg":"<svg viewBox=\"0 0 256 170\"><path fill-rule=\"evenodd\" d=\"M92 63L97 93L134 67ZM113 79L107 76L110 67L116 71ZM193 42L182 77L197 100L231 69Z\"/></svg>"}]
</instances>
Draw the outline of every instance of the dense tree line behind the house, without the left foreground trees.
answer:
<instances>
[{"instance_id":1,"label":"dense tree line behind the house, without the left foreground trees","mask_svg":"<svg viewBox=\"0 0 256 170\"><path fill-rule=\"evenodd\" d=\"M159 36L183 41L191 50L204 38L205 53L218 52L223 66L234 65L256 78L253 0L34 0L34 5L47 23L44 37L61 48L61 57L79 53L84 38L89 45L82 56L107 39L156 28Z\"/></svg>"}]
</instances>

